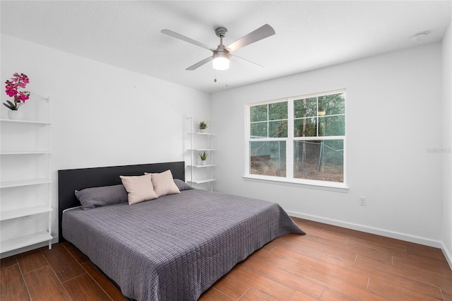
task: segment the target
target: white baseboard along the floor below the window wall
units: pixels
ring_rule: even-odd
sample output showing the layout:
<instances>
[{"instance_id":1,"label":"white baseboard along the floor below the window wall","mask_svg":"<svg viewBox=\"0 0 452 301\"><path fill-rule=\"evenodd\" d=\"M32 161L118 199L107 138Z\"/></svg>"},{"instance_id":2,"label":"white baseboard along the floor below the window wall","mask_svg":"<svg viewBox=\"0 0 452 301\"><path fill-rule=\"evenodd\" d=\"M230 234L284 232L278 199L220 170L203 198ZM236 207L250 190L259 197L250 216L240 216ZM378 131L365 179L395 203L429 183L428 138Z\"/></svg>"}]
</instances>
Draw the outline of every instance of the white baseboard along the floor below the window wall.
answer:
<instances>
[{"instance_id":1,"label":"white baseboard along the floor below the window wall","mask_svg":"<svg viewBox=\"0 0 452 301\"><path fill-rule=\"evenodd\" d=\"M286 212L287 212L287 214L289 214L289 216L295 216L296 218L304 218L305 220L313 220L313 221L316 221L319 223L325 223L328 225L336 225L338 227L343 227L343 228L347 228L347 229L358 230L358 231L381 235L381 236L385 236L385 237L391 237L391 238L395 238L396 240L405 240L406 242L414 242L416 244L424 244L429 247L435 247L435 248L442 249L443 252L445 250L444 244L439 240L431 240L429 238L420 237L420 236L416 236L416 235L408 235L408 234L401 233L401 232L369 227L367 225L348 223L348 222L344 222L342 220L333 220L331 218L323 218L321 216L313 216L311 214L304 214L304 213L299 213L299 212L295 212L295 211L286 211ZM447 258L447 256L446 256L446 258ZM448 258L449 265L451 264L450 259L451 259L451 257L449 256L449 258ZM451 267L452 267L452 265L451 265Z\"/></svg>"}]
</instances>

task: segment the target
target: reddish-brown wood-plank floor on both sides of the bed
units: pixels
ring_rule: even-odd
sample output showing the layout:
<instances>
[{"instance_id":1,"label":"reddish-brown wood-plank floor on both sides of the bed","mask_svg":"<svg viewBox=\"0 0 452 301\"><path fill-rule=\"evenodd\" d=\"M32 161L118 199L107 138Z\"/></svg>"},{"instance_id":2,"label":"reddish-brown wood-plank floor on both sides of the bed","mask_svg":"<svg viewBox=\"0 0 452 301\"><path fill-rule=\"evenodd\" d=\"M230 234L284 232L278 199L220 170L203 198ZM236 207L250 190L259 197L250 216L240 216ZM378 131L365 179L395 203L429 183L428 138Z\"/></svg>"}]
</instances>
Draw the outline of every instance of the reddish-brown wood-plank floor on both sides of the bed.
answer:
<instances>
[{"instance_id":1,"label":"reddish-brown wood-plank floor on both sides of the bed","mask_svg":"<svg viewBox=\"0 0 452 301\"><path fill-rule=\"evenodd\" d=\"M440 249L294 218L199 300L452 300ZM68 242L1 259L0 300L126 300Z\"/></svg>"}]
</instances>

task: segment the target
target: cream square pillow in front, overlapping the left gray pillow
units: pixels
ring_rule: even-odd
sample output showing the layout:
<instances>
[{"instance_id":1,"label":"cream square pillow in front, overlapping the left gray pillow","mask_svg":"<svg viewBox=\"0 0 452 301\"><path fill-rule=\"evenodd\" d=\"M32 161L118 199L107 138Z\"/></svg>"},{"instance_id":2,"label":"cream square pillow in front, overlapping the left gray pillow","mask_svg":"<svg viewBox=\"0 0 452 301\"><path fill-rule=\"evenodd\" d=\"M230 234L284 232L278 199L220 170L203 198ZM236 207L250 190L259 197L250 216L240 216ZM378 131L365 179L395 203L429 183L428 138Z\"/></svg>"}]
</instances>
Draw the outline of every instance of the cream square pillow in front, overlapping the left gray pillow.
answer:
<instances>
[{"instance_id":1,"label":"cream square pillow in front, overlapping the left gray pillow","mask_svg":"<svg viewBox=\"0 0 452 301\"><path fill-rule=\"evenodd\" d=\"M128 193L129 205L157 199L151 182L151 175L119 176Z\"/></svg>"}]
</instances>

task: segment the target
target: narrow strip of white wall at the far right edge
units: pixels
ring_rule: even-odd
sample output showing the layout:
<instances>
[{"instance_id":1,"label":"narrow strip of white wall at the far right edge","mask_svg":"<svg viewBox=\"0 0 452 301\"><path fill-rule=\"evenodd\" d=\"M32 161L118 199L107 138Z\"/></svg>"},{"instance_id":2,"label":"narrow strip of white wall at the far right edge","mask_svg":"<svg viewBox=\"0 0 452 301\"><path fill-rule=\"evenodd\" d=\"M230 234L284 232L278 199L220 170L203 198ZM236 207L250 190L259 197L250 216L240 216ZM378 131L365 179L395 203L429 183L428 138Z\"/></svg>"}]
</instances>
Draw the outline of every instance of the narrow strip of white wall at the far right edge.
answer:
<instances>
[{"instance_id":1,"label":"narrow strip of white wall at the far right edge","mask_svg":"<svg viewBox=\"0 0 452 301\"><path fill-rule=\"evenodd\" d=\"M443 252L452 267L452 23L443 39Z\"/></svg>"}]
</instances>

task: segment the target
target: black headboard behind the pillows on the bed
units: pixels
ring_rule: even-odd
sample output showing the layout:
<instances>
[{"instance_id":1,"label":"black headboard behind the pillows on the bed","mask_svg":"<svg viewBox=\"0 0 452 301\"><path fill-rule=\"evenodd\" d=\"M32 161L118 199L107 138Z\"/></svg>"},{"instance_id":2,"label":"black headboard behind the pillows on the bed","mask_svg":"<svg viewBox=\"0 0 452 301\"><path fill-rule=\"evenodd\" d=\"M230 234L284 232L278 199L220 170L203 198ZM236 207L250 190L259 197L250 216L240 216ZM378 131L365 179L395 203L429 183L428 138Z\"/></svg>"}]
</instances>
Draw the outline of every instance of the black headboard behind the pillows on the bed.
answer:
<instances>
[{"instance_id":1,"label":"black headboard behind the pillows on the bed","mask_svg":"<svg viewBox=\"0 0 452 301\"><path fill-rule=\"evenodd\" d=\"M58 226L59 241L64 241L61 232L61 218L67 208L81 206L74 194L75 190L121 184L120 175L144 175L144 172L164 172L171 170L174 179L185 181L185 163L151 163L110 167L80 168L58 171Z\"/></svg>"}]
</instances>

